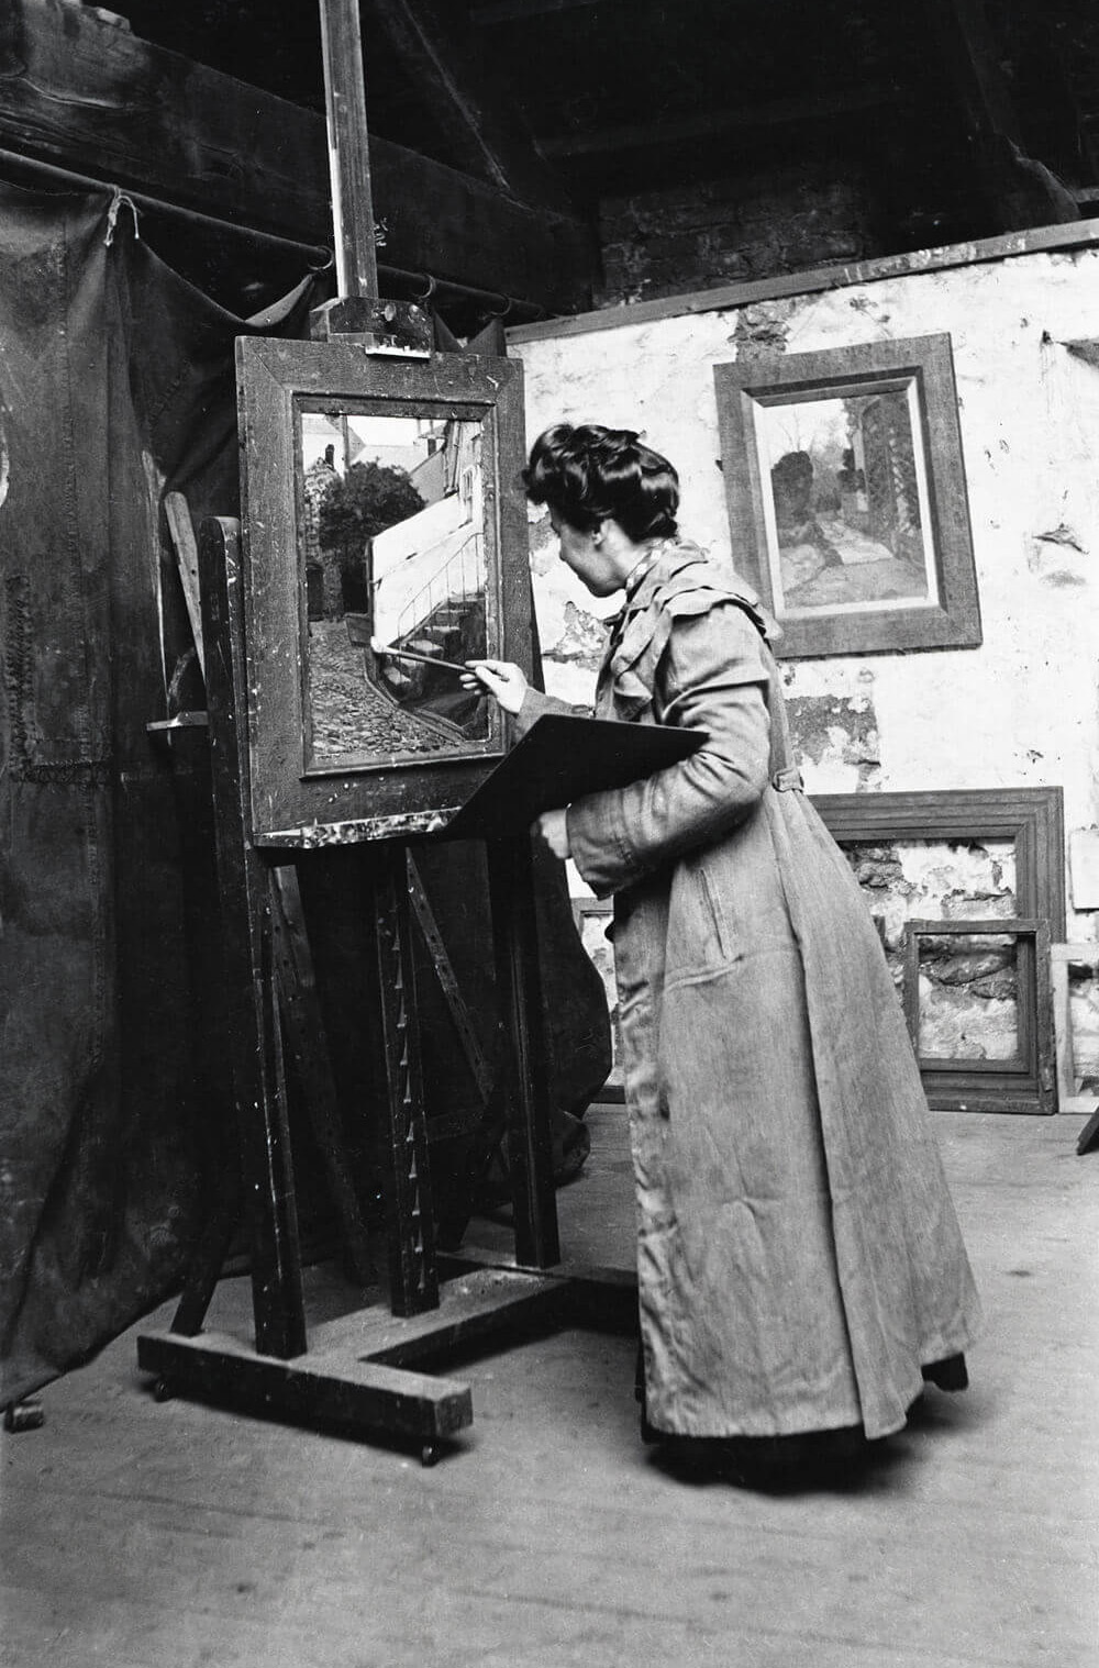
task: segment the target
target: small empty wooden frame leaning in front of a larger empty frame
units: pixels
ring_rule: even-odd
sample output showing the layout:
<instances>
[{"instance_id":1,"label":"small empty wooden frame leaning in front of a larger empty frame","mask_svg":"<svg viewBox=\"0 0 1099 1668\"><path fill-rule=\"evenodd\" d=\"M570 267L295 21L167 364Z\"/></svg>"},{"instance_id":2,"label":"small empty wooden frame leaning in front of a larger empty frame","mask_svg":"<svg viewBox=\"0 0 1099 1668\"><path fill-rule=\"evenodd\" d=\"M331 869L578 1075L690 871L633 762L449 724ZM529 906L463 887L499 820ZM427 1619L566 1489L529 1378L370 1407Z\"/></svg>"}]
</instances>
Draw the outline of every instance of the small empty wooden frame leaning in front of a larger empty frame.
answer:
<instances>
[{"instance_id":1,"label":"small empty wooden frame leaning in front of a larger empty frame","mask_svg":"<svg viewBox=\"0 0 1099 1668\"><path fill-rule=\"evenodd\" d=\"M929 937L1012 937L1017 946L1017 1049L1004 1059L921 1054L919 946ZM906 921L904 1012L927 1104L941 1111L1057 1111L1049 924L1019 916L982 921Z\"/></svg>"}]
</instances>

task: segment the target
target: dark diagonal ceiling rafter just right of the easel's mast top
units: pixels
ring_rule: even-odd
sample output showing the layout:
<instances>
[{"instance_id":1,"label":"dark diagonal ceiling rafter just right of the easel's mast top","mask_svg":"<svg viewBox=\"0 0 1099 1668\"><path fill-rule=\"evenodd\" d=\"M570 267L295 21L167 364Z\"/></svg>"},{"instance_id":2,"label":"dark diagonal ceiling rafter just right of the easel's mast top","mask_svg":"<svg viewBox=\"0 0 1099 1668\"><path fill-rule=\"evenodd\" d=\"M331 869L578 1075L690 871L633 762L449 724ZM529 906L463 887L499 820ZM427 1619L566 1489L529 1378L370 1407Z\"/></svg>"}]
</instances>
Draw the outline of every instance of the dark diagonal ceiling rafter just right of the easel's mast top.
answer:
<instances>
[{"instance_id":1,"label":"dark diagonal ceiling rafter just right of the easel's mast top","mask_svg":"<svg viewBox=\"0 0 1099 1668\"><path fill-rule=\"evenodd\" d=\"M380 30L450 145L450 162L525 203L569 210L565 187L539 155L514 107L434 0L364 0L364 30Z\"/></svg>"}]
</instances>

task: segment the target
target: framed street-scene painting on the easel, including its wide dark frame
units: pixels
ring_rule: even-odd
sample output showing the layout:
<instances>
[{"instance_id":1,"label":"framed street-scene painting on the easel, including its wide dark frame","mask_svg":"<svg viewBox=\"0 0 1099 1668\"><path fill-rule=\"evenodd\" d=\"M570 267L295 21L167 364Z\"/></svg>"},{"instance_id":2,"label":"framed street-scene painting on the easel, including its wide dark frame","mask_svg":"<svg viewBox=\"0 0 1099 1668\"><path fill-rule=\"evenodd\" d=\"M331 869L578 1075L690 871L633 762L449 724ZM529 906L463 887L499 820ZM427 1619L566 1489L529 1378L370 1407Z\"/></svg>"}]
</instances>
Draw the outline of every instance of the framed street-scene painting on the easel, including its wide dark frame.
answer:
<instances>
[{"instance_id":1,"label":"framed street-scene painting on the easel, including its wide dark frame","mask_svg":"<svg viewBox=\"0 0 1099 1668\"><path fill-rule=\"evenodd\" d=\"M505 752L465 661L530 671L522 367L240 339L252 837L429 831Z\"/></svg>"}]
</instances>

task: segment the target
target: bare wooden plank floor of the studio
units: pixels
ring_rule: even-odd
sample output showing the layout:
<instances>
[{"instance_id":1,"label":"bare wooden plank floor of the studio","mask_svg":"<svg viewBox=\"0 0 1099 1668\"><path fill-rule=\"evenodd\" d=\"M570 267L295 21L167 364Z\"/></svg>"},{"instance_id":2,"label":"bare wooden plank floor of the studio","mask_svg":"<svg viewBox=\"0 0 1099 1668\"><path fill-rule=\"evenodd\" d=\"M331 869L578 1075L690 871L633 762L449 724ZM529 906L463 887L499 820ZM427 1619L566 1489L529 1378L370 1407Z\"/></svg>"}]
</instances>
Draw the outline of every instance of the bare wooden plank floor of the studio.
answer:
<instances>
[{"instance_id":1,"label":"bare wooden plank floor of the studio","mask_svg":"<svg viewBox=\"0 0 1099 1668\"><path fill-rule=\"evenodd\" d=\"M627 1263L622 1108L589 1116L565 1243ZM422 1470L158 1404L135 1328L42 1393L42 1429L5 1438L0 1661L1096 1668L1099 1153L1076 1156L1074 1118L936 1123L986 1334L969 1394L929 1393L869 1473L675 1475L639 1443L620 1336L464 1363L475 1423ZM218 1304L243 1313L247 1293L223 1283Z\"/></svg>"}]
</instances>

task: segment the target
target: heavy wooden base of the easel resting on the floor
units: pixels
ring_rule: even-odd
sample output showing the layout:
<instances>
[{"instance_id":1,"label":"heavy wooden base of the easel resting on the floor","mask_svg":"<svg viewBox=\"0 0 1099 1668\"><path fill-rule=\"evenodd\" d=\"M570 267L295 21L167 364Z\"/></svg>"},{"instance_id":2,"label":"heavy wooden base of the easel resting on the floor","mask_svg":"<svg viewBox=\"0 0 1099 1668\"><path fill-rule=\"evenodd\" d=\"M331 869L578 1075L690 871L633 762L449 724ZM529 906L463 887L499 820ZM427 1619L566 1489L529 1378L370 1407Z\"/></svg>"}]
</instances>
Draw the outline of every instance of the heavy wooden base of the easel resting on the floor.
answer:
<instances>
[{"instance_id":1,"label":"heavy wooden base of the easel resting on the floor","mask_svg":"<svg viewBox=\"0 0 1099 1668\"><path fill-rule=\"evenodd\" d=\"M384 1304L357 1309L310 1329L309 1353L284 1361L258 1354L228 1333L143 1333L137 1364L155 1378L158 1399L212 1401L285 1424L320 1424L365 1439L409 1444L434 1465L450 1438L474 1423L470 1386L410 1371L457 1344L515 1323L559 1326L569 1319L635 1323L635 1281L619 1269L552 1273L445 1259L454 1273L440 1304L407 1319ZM470 1266L475 1264L475 1266Z\"/></svg>"}]
</instances>

